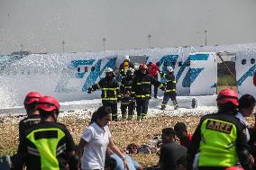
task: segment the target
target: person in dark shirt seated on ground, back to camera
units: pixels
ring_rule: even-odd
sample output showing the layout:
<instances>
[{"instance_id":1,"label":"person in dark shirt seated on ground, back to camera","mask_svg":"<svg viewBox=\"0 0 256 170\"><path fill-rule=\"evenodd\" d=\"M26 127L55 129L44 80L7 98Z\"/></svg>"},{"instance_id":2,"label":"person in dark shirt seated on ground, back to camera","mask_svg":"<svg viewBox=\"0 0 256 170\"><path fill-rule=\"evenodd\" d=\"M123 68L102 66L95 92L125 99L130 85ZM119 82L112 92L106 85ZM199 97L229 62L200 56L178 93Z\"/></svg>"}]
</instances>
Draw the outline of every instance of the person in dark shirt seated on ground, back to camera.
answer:
<instances>
[{"instance_id":1,"label":"person in dark shirt seated on ground, back to camera","mask_svg":"<svg viewBox=\"0 0 256 170\"><path fill-rule=\"evenodd\" d=\"M187 148L175 141L175 130L165 128L162 130L162 146L160 148L160 170L178 170L178 160L187 157Z\"/></svg>"}]
</instances>

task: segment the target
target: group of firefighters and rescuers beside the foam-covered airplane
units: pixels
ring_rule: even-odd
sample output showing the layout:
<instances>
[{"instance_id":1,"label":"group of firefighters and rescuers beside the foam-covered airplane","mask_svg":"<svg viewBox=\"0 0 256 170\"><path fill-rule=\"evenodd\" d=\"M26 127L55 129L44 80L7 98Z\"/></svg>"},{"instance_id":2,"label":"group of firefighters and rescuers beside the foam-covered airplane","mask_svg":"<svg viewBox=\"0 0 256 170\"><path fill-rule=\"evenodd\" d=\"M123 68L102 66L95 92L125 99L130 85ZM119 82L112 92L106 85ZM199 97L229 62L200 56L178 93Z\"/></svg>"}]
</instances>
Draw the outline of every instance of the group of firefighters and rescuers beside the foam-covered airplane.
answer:
<instances>
[{"instance_id":1,"label":"group of firefighters and rescuers beside the foam-covered airplane","mask_svg":"<svg viewBox=\"0 0 256 170\"><path fill-rule=\"evenodd\" d=\"M114 70L107 67L105 69L105 78L89 87L87 92L91 94L97 89L102 90L102 103L105 106L111 107L113 121L118 121L118 102L121 103L123 120L133 120L134 110L136 108L137 121L141 121L147 117L152 85L154 85L154 98L158 98L158 88L164 91L161 110L165 110L169 99L171 99L174 109L178 109L174 69L173 67L166 67L165 70L165 73L162 73L160 67L152 62L148 65L142 63L140 67L134 67L133 63L130 62L129 56L125 56L123 63L119 67L119 76L122 77L121 85L115 79ZM165 83L158 81L159 74L165 78Z\"/></svg>"}]
</instances>

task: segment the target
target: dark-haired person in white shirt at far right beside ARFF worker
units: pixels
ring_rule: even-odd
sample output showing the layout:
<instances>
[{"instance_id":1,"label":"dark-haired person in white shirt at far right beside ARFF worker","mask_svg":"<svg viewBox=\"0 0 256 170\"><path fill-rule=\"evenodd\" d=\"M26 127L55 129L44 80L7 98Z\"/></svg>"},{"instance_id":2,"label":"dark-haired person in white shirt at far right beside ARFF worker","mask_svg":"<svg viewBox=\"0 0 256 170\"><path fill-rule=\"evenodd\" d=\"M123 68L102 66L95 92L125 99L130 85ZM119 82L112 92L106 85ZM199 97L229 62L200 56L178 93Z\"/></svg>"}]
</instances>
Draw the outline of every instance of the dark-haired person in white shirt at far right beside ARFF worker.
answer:
<instances>
[{"instance_id":1,"label":"dark-haired person in white shirt at far right beside ARFF worker","mask_svg":"<svg viewBox=\"0 0 256 170\"><path fill-rule=\"evenodd\" d=\"M250 140L250 133L249 133L249 123L246 121L245 117L250 117L253 109L255 107L255 99L251 94L244 94L239 99L239 106L238 106L238 113L235 115L236 118L239 119L239 121L242 122L242 124L245 127L245 133L247 141Z\"/></svg>"}]
</instances>

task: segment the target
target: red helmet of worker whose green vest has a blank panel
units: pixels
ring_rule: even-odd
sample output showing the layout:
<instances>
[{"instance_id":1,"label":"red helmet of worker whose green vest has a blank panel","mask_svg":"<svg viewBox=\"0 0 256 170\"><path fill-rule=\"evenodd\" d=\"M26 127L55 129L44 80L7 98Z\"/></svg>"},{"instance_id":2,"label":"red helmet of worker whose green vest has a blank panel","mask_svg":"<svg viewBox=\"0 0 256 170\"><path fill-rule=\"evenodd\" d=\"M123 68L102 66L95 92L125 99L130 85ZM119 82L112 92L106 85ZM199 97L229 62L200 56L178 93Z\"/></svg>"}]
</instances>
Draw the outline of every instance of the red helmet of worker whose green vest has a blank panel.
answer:
<instances>
[{"instance_id":1,"label":"red helmet of worker whose green vest has a blank panel","mask_svg":"<svg viewBox=\"0 0 256 170\"><path fill-rule=\"evenodd\" d=\"M41 109L46 112L58 110L59 112L59 102L54 97L44 95L41 96L40 100L38 101L36 109Z\"/></svg>"}]
</instances>

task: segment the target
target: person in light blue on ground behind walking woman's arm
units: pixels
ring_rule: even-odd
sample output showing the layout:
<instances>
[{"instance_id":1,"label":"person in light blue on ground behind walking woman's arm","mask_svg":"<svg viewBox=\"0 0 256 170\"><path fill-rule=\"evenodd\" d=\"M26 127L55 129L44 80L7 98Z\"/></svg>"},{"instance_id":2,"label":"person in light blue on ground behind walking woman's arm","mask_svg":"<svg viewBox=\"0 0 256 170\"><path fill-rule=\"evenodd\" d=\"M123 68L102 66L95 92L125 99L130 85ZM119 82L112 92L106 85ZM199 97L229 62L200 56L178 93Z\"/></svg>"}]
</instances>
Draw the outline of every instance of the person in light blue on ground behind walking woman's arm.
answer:
<instances>
[{"instance_id":1,"label":"person in light blue on ground behind walking woman's arm","mask_svg":"<svg viewBox=\"0 0 256 170\"><path fill-rule=\"evenodd\" d=\"M116 160L116 166L114 170L124 170L123 166L123 160L118 157L114 152L111 150L111 148L106 148L106 156L107 157L113 157ZM142 170L142 166L138 164L132 157L129 155L124 155L123 157L126 157L127 164L129 167L129 170Z\"/></svg>"}]
</instances>

